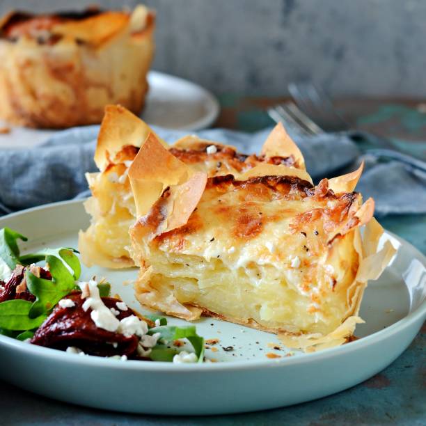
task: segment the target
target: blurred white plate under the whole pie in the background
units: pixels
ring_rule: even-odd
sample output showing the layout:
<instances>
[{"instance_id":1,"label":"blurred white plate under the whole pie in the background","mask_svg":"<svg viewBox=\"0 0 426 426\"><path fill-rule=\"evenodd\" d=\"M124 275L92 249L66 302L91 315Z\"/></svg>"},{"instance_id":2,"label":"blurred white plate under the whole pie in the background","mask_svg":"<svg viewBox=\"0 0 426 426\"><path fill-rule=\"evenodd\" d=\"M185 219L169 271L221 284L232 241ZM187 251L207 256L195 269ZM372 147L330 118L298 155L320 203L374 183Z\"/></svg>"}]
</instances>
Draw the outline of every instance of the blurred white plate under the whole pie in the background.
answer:
<instances>
[{"instance_id":1,"label":"blurred white plate under the whole pie in the background","mask_svg":"<svg viewBox=\"0 0 426 426\"><path fill-rule=\"evenodd\" d=\"M150 125L165 129L195 132L214 123L219 115L219 102L205 88L191 81L150 71L149 91L141 114ZM0 134L0 148L28 148L40 145L58 130L30 129L8 125L0 120L0 127L9 127L9 134Z\"/></svg>"}]
</instances>

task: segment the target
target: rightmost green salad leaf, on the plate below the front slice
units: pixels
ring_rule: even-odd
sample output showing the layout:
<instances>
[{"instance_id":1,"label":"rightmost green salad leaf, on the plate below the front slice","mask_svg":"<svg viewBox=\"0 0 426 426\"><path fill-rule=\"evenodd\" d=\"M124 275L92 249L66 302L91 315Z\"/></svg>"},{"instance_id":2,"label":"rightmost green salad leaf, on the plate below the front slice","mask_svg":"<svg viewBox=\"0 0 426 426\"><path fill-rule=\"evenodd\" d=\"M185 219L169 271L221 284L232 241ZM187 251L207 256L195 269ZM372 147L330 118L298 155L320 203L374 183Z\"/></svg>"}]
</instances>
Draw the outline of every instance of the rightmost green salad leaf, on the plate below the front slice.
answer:
<instances>
[{"instance_id":1,"label":"rightmost green salad leaf, on the plate below the front slice","mask_svg":"<svg viewBox=\"0 0 426 426\"><path fill-rule=\"evenodd\" d=\"M173 342L178 339L187 339L191 343L192 347L194 347L194 351L198 358L198 363L203 362L204 358L204 338L198 336L196 332L195 326L159 326L152 327L149 329L148 334L152 336L152 334L160 333L159 340L163 340L165 342ZM166 350L168 349L168 350ZM151 351L151 359L153 361L173 361L173 356L178 354L178 349L169 348L165 345L161 345L161 343Z\"/></svg>"}]
</instances>

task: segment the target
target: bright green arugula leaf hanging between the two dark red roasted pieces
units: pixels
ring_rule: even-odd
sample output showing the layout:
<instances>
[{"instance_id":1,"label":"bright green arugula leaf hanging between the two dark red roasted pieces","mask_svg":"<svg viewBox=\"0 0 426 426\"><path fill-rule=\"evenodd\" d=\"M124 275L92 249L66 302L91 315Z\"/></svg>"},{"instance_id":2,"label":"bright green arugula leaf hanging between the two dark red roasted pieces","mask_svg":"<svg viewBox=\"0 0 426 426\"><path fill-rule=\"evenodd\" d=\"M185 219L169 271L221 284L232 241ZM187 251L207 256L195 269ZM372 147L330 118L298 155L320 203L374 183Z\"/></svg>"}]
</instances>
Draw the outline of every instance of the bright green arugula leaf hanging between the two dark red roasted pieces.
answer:
<instances>
[{"instance_id":1,"label":"bright green arugula leaf hanging between the two dark red roasted pieces","mask_svg":"<svg viewBox=\"0 0 426 426\"><path fill-rule=\"evenodd\" d=\"M38 278L31 271L26 271L26 285L29 291L36 296L36 301L29 311L31 318L46 315L58 301L75 288L74 276L70 274L62 260L54 255L47 255L46 263L49 264L52 281Z\"/></svg>"}]
</instances>

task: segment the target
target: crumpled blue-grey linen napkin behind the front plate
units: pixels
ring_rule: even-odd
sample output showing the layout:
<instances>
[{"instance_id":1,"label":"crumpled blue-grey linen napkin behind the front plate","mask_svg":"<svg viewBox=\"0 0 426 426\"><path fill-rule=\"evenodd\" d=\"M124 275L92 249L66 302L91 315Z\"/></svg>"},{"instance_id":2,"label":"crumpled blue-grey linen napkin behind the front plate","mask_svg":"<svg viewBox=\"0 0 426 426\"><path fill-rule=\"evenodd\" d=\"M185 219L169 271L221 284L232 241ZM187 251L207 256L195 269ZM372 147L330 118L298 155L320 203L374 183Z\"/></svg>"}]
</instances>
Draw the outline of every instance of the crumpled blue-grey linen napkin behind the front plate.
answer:
<instances>
[{"instance_id":1,"label":"crumpled blue-grey linen napkin behind the front plate","mask_svg":"<svg viewBox=\"0 0 426 426\"><path fill-rule=\"evenodd\" d=\"M0 214L88 196L84 173L97 171L93 152L98 131L99 126L75 127L54 134L36 148L0 151ZM158 127L155 131L171 143L188 133ZM260 151L270 131L269 128L248 134L207 129L197 134L250 153ZM361 156L356 144L345 134L292 136L314 180L354 170L363 158L366 167L357 190L365 199L374 198L377 216L426 213L426 173L399 161L383 162L378 157Z\"/></svg>"}]
</instances>

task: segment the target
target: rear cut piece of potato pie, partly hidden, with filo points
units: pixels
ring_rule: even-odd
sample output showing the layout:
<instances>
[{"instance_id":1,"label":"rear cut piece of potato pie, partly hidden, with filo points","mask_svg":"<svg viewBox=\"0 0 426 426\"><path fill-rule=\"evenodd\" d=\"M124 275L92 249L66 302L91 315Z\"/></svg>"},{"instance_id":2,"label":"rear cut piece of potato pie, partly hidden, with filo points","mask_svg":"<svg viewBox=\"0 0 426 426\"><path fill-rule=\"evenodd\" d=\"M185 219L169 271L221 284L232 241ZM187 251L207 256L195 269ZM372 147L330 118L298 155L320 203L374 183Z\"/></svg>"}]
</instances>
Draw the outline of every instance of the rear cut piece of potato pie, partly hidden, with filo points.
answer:
<instances>
[{"instance_id":1,"label":"rear cut piece of potato pie, partly hidden, with filo points","mask_svg":"<svg viewBox=\"0 0 426 426\"><path fill-rule=\"evenodd\" d=\"M153 139L168 149L168 160L174 160L164 164L165 168L171 168L171 175L178 173L178 164L187 164L191 170L203 171L209 176L229 173L238 176L258 164L281 164L299 168L301 177L310 179L304 171L299 148L282 126L271 132L260 155L242 155L230 145L196 136L186 136L169 147L140 118L123 107L110 105L105 110L95 151L95 163L100 172L86 175L93 196L85 203L92 223L88 230L79 234L79 251L85 265L111 268L134 265L128 246L129 226L136 220L136 207L127 174L141 147L144 157L150 152ZM149 180L151 167L155 170L156 165L148 162L139 166L137 172L134 170L134 181L144 177ZM153 185L145 189L141 198L148 200L146 192L155 189ZM155 192L152 203L159 195Z\"/></svg>"}]
</instances>

